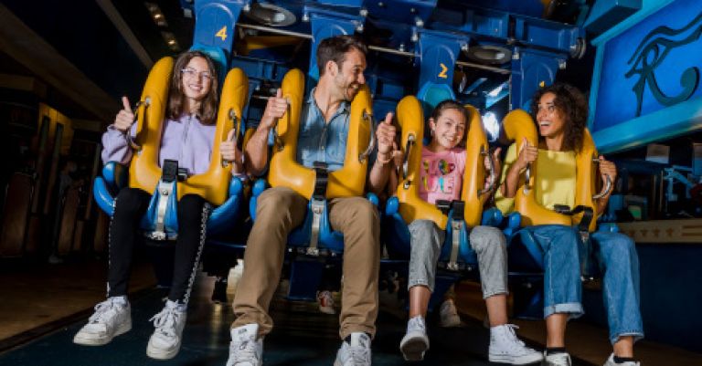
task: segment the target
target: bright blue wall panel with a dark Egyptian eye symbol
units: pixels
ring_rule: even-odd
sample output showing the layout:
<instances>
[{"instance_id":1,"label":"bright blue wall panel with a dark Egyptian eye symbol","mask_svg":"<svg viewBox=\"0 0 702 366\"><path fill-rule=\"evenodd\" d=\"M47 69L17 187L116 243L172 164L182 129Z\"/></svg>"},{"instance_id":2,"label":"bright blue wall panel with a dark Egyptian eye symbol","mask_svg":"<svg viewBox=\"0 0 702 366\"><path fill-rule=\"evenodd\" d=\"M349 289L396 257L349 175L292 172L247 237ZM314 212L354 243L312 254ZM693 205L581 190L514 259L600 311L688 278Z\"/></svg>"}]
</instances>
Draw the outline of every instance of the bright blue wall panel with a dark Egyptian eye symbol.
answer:
<instances>
[{"instance_id":1,"label":"bright blue wall panel with a dark Egyptian eye symbol","mask_svg":"<svg viewBox=\"0 0 702 366\"><path fill-rule=\"evenodd\" d=\"M602 152L702 128L702 3L656 9L598 39L590 130Z\"/></svg>"}]
</instances>

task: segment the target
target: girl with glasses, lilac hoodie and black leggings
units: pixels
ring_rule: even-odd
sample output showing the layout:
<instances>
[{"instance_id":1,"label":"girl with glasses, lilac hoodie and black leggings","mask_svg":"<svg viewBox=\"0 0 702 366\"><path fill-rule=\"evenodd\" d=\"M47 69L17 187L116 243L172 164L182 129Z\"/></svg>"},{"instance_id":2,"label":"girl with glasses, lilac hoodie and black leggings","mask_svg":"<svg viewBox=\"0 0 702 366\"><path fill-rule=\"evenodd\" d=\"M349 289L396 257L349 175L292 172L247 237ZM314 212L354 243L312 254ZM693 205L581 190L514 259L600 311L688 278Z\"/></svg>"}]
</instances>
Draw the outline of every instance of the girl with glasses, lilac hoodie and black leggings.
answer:
<instances>
[{"instance_id":1,"label":"girl with glasses, lilac hoodie and black leggings","mask_svg":"<svg viewBox=\"0 0 702 366\"><path fill-rule=\"evenodd\" d=\"M219 152L212 152L218 109L217 72L212 60L198 51L186 52L176 59L170 85L164 132L159 151L159 162L177 160L188 175L207 172L213 153L233 162L232 172L241 172L241 152L229 131L228 141L220 144ZM129 100L122 98L123 110L102 135L102 162L128 164L132 150L126 133L135 133L134 113ZM82 345L98 346L109 343L113 337L132 329L130 304L127 300L129 268L138 225L151 199L151 192L123 188L115 199L114 215L110 225L107 299L95 306L95 313L74 337ZM186 324L187 300L190 296L197 262L202 252L207 220L205 200L187 194L178 202L178 235L174 257L173 283L168 300L156 314L154 334L149 339L146 354L154 359L167 360L180 350L181 335Z\"/></svg>"}]
</instances>

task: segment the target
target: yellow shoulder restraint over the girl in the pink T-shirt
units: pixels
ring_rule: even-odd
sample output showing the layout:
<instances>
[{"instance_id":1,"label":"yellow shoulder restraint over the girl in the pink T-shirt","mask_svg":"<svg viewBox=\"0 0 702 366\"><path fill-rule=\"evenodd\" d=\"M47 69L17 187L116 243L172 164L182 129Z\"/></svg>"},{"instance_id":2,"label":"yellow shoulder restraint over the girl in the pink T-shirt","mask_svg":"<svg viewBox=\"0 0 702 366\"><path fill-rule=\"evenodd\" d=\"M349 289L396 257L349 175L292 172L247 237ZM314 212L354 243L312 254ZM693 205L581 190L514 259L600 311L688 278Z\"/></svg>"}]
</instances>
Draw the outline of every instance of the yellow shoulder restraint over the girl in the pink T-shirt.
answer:
<instances>
[{"instance_id":1,"label":"yellow shoulder restraint over the girl in the pink T-shirt","mask_svg":"<svg viewBox=\"0 0 702 366\"><path fill-rule=\"evenodd\" d=\"M472 106L466 105L471 120L466 139L465 172L461 199L465 203L464 220L469 227L480 225L483 214L483 204L489 190L484 190L484 156L489 154L487 138L480 114ZM414 220L431 220L441 228L446 227L448 217L420 198L420 169L421 150L423 146L424 117L420 102L413 96L407 96L399 101L398 121L401 130L402 152L405 162L400 167L399 184L397 189L399 214L406 223ZM495 177L493 177L495 181Z\"/></svg>"}]
</instances>

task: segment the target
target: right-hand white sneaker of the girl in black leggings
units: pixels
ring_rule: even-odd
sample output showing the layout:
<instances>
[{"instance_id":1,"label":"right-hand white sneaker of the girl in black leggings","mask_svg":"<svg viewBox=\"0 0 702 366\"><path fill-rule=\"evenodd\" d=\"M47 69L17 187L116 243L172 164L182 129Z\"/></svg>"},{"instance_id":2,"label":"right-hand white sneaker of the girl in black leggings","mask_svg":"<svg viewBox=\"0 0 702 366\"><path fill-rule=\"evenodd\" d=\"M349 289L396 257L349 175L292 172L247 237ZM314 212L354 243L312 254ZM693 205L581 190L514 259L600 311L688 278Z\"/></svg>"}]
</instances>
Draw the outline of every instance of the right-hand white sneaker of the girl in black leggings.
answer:
<instances>
[{"instance_id":1,"label":"right-hand white sneaker of the girl in black leggings","mask_svg":"<svg viewBox=\"0 0 702 366\"><path fill-rule=\"evenodd\" d=\"M186 312L178 309L176 302L166 301L164 309L149 319L154 322L156 329L146 346L146 355L156 360L169 360L176 357L183 340L186 318Z\"/></svg>"}]
</instances>

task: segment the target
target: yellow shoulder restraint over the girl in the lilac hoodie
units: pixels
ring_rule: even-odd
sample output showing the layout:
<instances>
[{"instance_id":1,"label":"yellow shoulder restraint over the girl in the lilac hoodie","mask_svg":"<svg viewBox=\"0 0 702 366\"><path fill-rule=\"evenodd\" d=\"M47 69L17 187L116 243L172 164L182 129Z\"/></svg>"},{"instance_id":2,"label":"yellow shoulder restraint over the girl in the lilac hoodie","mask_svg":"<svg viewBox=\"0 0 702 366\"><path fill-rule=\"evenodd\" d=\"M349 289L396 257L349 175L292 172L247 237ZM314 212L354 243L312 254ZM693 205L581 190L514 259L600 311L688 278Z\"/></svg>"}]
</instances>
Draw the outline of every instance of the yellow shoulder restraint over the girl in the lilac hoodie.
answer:
<instances>
[{"instance_id":1,"label":"yellow shoulder restraint over the girl in the lilac hoodie","mask_svg":"<svg viewBox=\"0 0 702 366\"><path fill-rule=\"evenodd\" d=\"M173 73L173 58L161 58L151 69L144 84L139 101L136 137L130 141L134 150L129 167L129 186L153 193L161 179L158 152L161 148L161 134L165 122L165 106ZM249 80L239 68L229 71L222 88L219 102L215 142L212 159L207 173L197 174L178 182L178 199L185 194L198 194L210 204L223 204L227 199L231 173L221 160L219 143L227 138L228 132L236 127L237 135L241 126L241 111L248 96Z\"/></svg>"}]
</instances>

